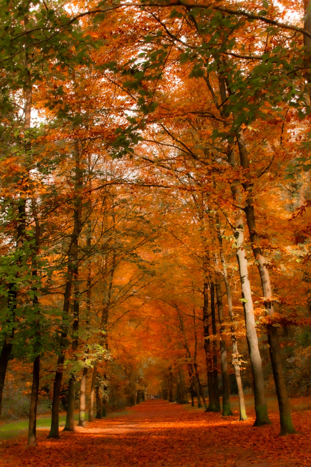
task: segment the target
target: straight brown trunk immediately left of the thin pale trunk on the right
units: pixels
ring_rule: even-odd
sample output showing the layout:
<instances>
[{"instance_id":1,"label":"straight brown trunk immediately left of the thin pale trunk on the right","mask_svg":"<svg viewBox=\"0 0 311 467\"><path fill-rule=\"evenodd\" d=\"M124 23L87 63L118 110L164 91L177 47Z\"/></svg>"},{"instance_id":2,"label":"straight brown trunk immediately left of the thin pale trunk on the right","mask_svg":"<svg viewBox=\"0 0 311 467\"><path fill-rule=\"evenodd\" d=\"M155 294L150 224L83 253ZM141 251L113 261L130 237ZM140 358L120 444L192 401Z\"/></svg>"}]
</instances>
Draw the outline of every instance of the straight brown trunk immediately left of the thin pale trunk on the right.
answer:
<instances>
[{"instance_id":1,"label":"straight brown trunk immediately left of the thin pale trunk on the right","mask_svg":"<svg viewBox=\"0 0 311 467\"><path fill-rule=\"evenodd\" d=\"M219 282L215 284L217 308L220 324L220 334L224 335L226 328L223 324L223 309L222 309L222 297L221 297L221 286ZM222 379L222 415L228 416L233 415L230 406L230 387L229 387L229 375L228 375L228 361L227 361L227 347L226 342L221 337L220 340L220 352L221 352L221 379Z\"/></svg>"}]
</instances>

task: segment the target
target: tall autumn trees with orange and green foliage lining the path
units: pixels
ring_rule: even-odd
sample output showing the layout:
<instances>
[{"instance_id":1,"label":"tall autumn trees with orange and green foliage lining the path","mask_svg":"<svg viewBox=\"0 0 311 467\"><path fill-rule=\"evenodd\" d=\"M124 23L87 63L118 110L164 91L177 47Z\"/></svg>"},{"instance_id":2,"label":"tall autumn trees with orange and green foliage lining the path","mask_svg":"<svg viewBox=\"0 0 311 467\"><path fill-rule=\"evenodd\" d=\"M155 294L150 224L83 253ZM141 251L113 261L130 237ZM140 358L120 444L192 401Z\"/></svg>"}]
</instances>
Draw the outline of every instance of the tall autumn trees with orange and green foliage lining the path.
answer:
<instances>
[{"instance_id":1,"label":"tall autumn trees with orange and green foliage lining the path","mask_svg":"<svg viewBox=\"0 0 311 467\"><path fill-rule=\"evenodd\" d=\"M50 437L64 371L74 430L77 376L83 425L90 369L92 417L111 359L132 402L139 361L161 361L171 399L175 381L186 402L188 375L219 410L219 340L223 414L229 363L246 418L249 358L255 425L270 423L256 325L281 434L295 432L279 330L310 318L308 12L285 1L1 3L0 402L9 360L26 355L29 444L40 361L53 354Z\"/></svg>"}]
</instances>

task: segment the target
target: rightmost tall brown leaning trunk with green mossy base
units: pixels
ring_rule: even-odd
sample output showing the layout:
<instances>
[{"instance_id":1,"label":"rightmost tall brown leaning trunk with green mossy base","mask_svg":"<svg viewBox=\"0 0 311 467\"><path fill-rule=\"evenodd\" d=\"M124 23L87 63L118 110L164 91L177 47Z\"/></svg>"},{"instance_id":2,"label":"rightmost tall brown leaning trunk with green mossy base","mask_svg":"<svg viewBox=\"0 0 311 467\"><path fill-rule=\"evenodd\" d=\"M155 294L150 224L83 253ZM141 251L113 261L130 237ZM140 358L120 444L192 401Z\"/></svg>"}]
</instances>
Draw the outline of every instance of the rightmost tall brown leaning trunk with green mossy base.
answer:
<instances>
[{"instance_id":1,"label":"rightmost tall brown leaning trunk with green mossy base","mask_svg":"<svg viewBox=\"0 0 311 467\"><path fill-rule=\"evenodd\" d=\"M260 241L256 231L256 221L255 221L255 210L254 210L254 201L253 201L253 187L249 176L249 160L246 150L246 145L242 133L237 136L238 148L240 154L241 166L244 170L247 170L246 179L247 182L243 183L243 188L247 192L245 214L247 225L249 229L249 237L251 241L251 246L255 260L257 262L257 267L260 274L260 279L263 288L264 296L264 305L266 309L266 314L273 317L274 305L273 305L273 296L272 289L270 284L270 275L267 268L267 263L263 256L262 250L260 248ZM273 323L267 324L267 334L268 334L268 343L269 343L269 353L270 360L272 365L272 372L274 377L274 382L276 385L276 396L279 405L280 412L280 423L281 431L280 434L289 434L295 433L294 426L292 424L291 413L290 413L290 403L287 395L285 378L283 373L283 364L280 354L279 338L277 333L277 327L273 326Z\"/></svg>"}]
</instances>

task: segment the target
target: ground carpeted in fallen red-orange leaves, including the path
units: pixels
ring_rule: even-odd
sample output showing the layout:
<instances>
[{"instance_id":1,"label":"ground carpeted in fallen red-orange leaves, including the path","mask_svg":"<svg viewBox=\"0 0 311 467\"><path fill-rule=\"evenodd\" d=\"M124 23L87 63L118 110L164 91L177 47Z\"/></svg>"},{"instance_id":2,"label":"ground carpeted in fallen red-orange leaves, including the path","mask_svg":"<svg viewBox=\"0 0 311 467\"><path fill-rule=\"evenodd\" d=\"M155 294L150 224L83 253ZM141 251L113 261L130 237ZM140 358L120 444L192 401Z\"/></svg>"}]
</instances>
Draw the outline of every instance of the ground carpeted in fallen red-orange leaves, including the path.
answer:
<instances>
[{"instance_id":1,"label":"ground carpeted in fallen red-orange leaves, including the path","mask_svg":"<svg viewBox=\"0 0 311 467\"><path fill-rule=\"evenodd\" d=\"M297 403L299 405L299 403ZM94 420L61 439L47 439L38 430L37 447L27 436L2 440L0 467L296 467L311 466L311 410L294 408L296 435L278 436L276 407L273 425L253 427L219 413L163 400L140 403L126 415Z\"/></svg>"}]
</instances>

